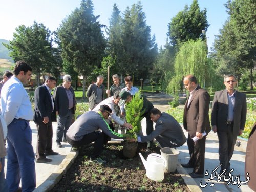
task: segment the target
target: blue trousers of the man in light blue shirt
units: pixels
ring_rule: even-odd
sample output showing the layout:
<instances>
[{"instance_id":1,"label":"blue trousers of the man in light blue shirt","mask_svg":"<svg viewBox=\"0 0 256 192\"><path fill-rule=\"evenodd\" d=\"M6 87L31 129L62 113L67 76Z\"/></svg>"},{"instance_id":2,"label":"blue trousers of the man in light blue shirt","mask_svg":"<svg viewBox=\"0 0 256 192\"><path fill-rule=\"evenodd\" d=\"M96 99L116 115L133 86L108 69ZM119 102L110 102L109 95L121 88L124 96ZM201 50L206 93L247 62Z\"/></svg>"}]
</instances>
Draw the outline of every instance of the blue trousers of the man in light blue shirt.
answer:
<instances>
[{"instance_id":1,"label":"blue trousers of the man in light blue shirt","mask_svg":"<svg viewBox=\"0 0 256 192\"><path fill-rule=\"evenodd\" d=\"M22 180L22 191L33 191L36 187L35 156L32 146L32 130L29 122L14 119L8 125L6 181L10 192L18 189Z\"/></svg>"}]
</instances>

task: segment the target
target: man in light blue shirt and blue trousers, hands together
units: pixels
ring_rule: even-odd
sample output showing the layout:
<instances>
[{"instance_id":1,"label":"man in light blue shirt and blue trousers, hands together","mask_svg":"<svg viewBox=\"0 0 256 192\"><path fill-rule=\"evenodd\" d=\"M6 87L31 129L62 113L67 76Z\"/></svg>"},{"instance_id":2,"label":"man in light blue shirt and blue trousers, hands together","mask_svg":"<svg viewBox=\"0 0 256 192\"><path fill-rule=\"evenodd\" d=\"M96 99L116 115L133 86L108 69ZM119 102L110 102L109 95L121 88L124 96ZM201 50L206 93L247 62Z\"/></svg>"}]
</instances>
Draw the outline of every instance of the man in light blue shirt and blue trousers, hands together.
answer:
<instances>
[{"instance_id":1,"label":"man in light blue shirt and blue trousers, hands together","mask_svg":"<svg viewBox=\"0 0 256 192\"><path fill-rule=\"evenodd\" d=\"M1 111L8 126L7 173L9 191L17 191L20 179L22 191L33 191L36 187L35 156L32 147L32 130L29 121L33 111L23 83L31 79L32 68L24 61L15 65L14 76L1 91Z\"/></svg>"}]
</instances>

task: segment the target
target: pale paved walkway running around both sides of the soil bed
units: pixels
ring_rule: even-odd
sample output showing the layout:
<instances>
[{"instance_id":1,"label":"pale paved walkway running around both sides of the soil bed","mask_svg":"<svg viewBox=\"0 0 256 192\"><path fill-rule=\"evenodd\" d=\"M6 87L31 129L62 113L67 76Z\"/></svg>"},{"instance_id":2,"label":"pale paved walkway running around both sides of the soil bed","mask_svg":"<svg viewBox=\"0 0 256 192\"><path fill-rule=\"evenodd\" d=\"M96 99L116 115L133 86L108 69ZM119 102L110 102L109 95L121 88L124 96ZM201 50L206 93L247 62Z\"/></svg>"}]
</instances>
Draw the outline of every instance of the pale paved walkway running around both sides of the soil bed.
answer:
<instances>
[{"instance_id":1,"label":"pale paved walkway running around both sides of the soil bed","mask_svg":"<svg viewBox=\"0 0 256 192\"><path fill-rule=\"evenodd\" d=\"M150 100L156 108L160 111L165 112L169 109L168 101L172 98L164 93L159 94L146 94L148 100ZM185 99L185 98L181 98ZM32 128L32 144L36 147L37 140L37 130L36 126L33 122L30 122L30 126ZM55 183L57 183L63 174L66 173L69 166L71 166L75 157L78 155L77 152L70 152L71 147L68 143L62 143L62 148L57 148L55 145L56 139L56 122L53 123L53 150L59 152L59 155L48 156L48 158L52 159L50 163L36 163L36 190L35 191L49 191ZM145 130L145 119L142 120L142 129ZM143 131L144 133L145 131ZM184 130L184 132L186 132ZM187 133L185 133L187 135ZM241 141L240 147L235 147L234 155L231 159L231 168L234 168L234 172L232 175L238 176L240 175L240 181L245 181L244 176L244 161L245 161L245 150L246 150L246 141ZM180 152L178 156L178 167L177 170L181 173L183 179L188 185L191 191L252 191L246 184L241 185L238 188L238 184L229 184L226 185L224 182L217 182L217 178L215 177L212 180L209 180L206 187L200 187L200 182L203 185L206 184L208 178L210 178L211 172L219 165L218 160L218 137L217 134L210 132L206 139L206 152L205 152L205 172L208 171L209 175L204 176L203 179L192 179L188 173L192 171L192 169L184 169L180 166L181 163L187 163L189 160L189 153L186 143L177 148ZM6 166L5 166L6 169ZM218 169L220 170L220 168ZM214 172L215 173L215 172ZM214 184L213 186L211 186Z\"/></svg>"}]
</instances>

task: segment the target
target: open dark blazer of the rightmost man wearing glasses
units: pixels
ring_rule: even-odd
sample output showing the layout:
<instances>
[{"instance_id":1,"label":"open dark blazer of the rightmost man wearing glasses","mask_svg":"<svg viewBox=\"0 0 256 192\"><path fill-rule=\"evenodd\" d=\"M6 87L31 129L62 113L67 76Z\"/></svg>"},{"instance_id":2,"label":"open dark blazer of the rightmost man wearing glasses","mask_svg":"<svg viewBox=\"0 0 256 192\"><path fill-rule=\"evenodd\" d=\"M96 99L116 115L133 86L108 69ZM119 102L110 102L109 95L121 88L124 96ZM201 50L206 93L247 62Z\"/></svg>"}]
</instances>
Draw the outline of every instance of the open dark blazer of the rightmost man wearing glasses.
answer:
<instances>
[{"instance_id":1,"label":"open dark blazer of the rightmost man wearing glasses","mask_svg":"<svg viewBox=\"0 0 256 192\"><path fill-rule=\"evenodd\" d=\"M236 91L234 93L234 123L233 134L238 135L243 130L246 121L246 96ZM227 130L228 96L227 90L216 91L212 102L211 125L217 126L217 131Z\"/></svg>"}]
</instances>

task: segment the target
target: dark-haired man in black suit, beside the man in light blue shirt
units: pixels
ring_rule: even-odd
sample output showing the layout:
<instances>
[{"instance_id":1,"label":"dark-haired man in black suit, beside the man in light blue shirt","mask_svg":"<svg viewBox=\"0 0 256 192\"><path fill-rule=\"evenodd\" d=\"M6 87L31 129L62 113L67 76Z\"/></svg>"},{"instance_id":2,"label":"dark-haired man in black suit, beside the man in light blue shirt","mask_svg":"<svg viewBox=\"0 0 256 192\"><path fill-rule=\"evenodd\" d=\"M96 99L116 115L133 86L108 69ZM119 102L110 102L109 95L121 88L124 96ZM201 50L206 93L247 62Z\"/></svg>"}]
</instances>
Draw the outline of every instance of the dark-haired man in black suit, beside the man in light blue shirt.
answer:
<instances>
[{"instance_id":1,"label":"dark-haired man in black suit, beside the man in light blue shirt","mask_svg":"<svg viewBox=\"0 0 256 192\"><path fill-rule=\"evenodd\" d=\"M36 162L47 163L52 161L47 155L57 155L52 150L52 121L56 121L54 99L51 95L56 86L56 78L47 77L45 84L35 90L34 122L37 128Z\"/></svg>"}]
</instances>

